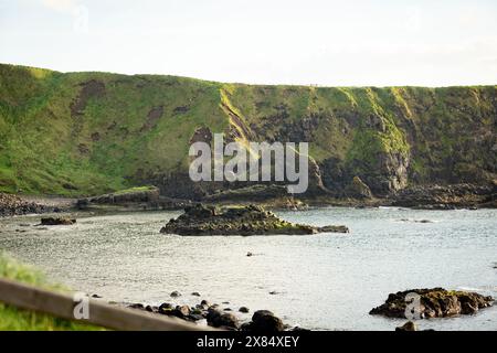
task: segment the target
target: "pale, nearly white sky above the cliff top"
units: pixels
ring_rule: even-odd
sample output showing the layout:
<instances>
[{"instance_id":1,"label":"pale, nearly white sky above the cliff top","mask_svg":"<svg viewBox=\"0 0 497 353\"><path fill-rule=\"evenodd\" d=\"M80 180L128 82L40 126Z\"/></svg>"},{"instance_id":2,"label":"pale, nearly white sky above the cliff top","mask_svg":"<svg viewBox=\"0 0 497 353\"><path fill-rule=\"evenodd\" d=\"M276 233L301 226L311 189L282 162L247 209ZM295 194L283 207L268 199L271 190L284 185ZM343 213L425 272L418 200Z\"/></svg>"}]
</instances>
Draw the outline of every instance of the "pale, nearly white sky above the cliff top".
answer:
<instances>
[{"instance_id":1,"label":"pale, nearly white sky above the cliff top","mask_svg":"<svg viewBox=\"0 0 497 353\"><path fill-rule=\"evenodd\" d=\"M497 84L495 0L0 0L0 63L319 86Z\"/></svg>"}]
</instances>

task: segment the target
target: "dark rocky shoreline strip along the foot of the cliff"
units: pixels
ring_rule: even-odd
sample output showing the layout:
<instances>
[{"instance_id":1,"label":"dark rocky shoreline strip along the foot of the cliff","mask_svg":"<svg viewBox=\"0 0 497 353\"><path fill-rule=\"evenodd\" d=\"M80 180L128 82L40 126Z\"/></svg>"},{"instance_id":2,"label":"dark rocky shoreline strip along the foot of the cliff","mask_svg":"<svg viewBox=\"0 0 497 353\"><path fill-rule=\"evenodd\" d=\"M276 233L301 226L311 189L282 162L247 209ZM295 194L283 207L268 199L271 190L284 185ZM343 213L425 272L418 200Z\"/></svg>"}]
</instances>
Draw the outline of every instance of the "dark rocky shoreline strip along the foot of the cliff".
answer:
<instances>
[{"instance_id":1,"label":"dark rocky shoreline strip along the foot of the cliff","mask_svg":"<svg viewBox=\"0 0 497 353\"><path fill-rule=\"evenodd\" d=\"M254 185L208 195L199 201L165 196L158 188L135 188L137 191L115 192L92 197L62 199L33 197L21 194L0 193L0 217L25 214L70 211L161 211L182 210L205 204L212 206L240 206L256 204L269 210L305 210L309 206L378 207L395 206L420 210L476 210L497 207L497 184L416 185L396 191L384 197L376 197L357 181L355 192L347 195L329 194L290 197L283 186ZM142 190L140 190L142 189ZM253 194L252 194L253 192Z\"/></svg>"}]
</instances>

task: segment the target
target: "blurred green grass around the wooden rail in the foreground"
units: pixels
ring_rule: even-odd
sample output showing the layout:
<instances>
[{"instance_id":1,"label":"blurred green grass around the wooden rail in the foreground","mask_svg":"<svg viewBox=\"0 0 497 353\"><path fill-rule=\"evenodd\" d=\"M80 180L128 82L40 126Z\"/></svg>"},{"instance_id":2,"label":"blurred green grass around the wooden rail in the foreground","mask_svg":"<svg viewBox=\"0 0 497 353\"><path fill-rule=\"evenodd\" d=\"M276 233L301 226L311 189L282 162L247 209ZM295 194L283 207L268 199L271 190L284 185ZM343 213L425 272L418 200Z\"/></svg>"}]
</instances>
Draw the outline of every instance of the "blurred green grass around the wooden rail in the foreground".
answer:
<instances>
[{"instance_id":1,"label":"blurred green grass around the wooden rail in the foreground","mask_svg":"<svg viewBox=\"0 0 497 353\"><path fill-rule=\"evenodd\" d=\"M18 280L45 289L61 290L46 281L39 270L20 264L10 256L0 253L0 277ZM89 331L103 330L98 327L81 324L49 314L21 310L0 302L0 331Z\"/></svg>"}]
</instances>

